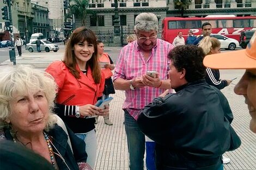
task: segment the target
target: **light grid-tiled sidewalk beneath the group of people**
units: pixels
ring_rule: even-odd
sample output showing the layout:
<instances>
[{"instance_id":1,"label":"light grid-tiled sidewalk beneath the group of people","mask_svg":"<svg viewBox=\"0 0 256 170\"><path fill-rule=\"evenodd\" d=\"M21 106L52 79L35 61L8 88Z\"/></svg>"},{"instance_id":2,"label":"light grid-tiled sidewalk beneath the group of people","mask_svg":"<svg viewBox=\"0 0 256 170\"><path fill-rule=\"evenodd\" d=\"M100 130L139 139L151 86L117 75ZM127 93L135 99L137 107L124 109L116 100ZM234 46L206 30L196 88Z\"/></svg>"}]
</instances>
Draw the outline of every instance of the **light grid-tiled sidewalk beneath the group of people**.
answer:
<instances>
[{"instance_id":1,"label":"light grid-tiled sidewalk beneath the group of people","mask_svg":"<svg viewBox=\"0 0 256 170\"><path fill-rule=\"evenodd\" d=\"M233 92L234 85L225 87L222 92L228 98L234 114L233 128L241 137L242 145L233 152L224 155L231 162L224 165L224 169L230 170L255 170L256 169L256 135L249 131L250 116L244 98ZM114 100L110 104L110 119L113 125L106 125L103 117L99 117L96 125L97 158L95 169L129 169L129 156L124 129L124 112L121 106L125 99L124 91L117 90L112 95Z\"/></svg>"}]
</instances>

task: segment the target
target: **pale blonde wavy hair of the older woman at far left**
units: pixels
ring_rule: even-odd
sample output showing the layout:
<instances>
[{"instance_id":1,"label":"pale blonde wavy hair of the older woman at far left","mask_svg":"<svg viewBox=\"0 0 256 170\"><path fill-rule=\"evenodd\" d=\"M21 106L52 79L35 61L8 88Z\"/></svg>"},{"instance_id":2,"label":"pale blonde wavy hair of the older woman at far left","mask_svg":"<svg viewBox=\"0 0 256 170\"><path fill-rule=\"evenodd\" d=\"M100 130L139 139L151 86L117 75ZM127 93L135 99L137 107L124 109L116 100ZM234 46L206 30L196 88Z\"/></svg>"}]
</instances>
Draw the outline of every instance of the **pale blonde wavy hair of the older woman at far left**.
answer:
<instances>
[{"instance_id":1,"label":"pale blonde wavy hair of the older woman at far left","mask_svg":"<svg viewBox=\"0 0 256 170\"><path fill-rule=\"evenodd\" d=\"M45 130L49 130L57 122L52 110L56 97L57 85L53 77L28 65L4 68L0 72L0 128L7 127L5 122L11 112L10 101L15 95L42 91L48 101L48 121Z\"/></svg>"}]
</instances>

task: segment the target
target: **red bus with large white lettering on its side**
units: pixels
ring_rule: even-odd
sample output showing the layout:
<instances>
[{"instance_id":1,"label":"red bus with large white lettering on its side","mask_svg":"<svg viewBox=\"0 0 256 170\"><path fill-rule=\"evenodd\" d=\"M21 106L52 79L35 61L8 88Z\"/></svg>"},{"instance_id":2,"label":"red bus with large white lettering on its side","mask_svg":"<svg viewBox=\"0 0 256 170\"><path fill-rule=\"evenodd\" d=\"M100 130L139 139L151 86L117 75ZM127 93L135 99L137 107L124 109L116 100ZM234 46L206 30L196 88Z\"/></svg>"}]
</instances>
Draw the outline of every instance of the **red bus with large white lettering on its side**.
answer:
<instances>
[{"instance_id":1,"label":"red bus with large white lettering on its side","mask_svg":"<svg viewBox=\"0 0 256 170\"><path fill-rule=\"evenodd\" d=\"M162 39L172 43L178 33L182 32L186 40L190 29L194 35L200 35L204 22L211 23L212 34L222 34L237 41L242 30L256 30L256 16L166 17L162 20Z\"/></svg>"}]
</instances>

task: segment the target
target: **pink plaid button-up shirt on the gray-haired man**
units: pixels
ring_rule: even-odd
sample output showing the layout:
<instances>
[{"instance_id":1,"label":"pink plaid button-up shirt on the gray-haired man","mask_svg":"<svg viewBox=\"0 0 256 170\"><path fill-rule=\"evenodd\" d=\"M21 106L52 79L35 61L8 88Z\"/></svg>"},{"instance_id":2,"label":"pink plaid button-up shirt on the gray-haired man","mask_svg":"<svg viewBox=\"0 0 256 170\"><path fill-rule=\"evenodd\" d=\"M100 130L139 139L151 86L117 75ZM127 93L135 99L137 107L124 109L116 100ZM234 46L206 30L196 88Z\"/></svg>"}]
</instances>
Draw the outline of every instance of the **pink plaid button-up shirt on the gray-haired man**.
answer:
<instances>
[{"instance_id":1,"label":"pink plaid button-up shirt on the gray-haired man","mask_svg":"<svg viewBox=\"0 0 256 170\"><path fill-rule=\"evenodd\" d=\"M142 74L145 74L147 71L159 72L161 80L168 79L168 65L170 64L170 60L167 58L167 55L171 49L173 49L172 44L157 39L156 46L152 48L148 60L145 61L137 41L129 43L129 45L120 51L115 66L113 81L118 78L131 80L136 77L142 77ZM126 90L123 109L126 109L137 120L144 106L164 91L164 89L148 86L135 90Z\"/></svg>"}]
</instances>

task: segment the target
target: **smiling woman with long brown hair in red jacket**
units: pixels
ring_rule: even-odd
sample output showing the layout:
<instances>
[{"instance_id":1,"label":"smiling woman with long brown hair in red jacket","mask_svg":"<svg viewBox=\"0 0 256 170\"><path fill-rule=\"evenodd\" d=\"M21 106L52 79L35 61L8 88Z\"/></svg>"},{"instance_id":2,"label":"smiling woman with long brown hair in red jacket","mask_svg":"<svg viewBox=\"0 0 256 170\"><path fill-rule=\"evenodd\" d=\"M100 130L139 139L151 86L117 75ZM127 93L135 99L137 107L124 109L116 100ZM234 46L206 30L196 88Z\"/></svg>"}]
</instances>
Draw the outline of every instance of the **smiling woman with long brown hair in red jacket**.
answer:
<instances>
[{"instance_id":1,"label":"smiling woman with long brown hair in red jacket","mask_svg":"<svg viewBox=\"0 0 256 170\"><path fill-rule=\"evenodd\" d=\"M87 163L94 168L96 160L95 116L105 116L109 107L100 109L94 104L102 96L105 77L96 55L96 36L92 30L74 30L65 49L63 61L46 68L57 85L56 113L74 133L86 142Z\"/></svg>"}]
</instances>

